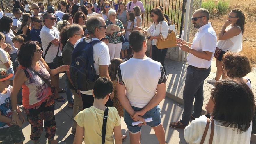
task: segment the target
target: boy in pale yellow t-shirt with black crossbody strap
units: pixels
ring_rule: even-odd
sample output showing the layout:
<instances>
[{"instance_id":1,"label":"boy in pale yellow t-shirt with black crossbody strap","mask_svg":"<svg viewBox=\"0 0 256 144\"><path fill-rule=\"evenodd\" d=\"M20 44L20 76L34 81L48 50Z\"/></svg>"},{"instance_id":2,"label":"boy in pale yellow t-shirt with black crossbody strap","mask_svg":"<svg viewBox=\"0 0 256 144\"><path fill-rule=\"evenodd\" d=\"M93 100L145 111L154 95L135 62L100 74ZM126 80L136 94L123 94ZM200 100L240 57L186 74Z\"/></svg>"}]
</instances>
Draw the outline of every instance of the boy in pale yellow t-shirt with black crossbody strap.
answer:
<instances>
[{"instance_id":1,"label":"boy in pale yellow t-shirt with black crossbody strap","mask_svg":"<svg viewBox=\"0 0 256 144\"><path fill-rule=\"evenodd\" d=\"M80 111L74 120L77 122L76 135L73 144L81 144L84 137L84 143L102 143L102 123L105 110L105 104L113 91L112 82L106 77L100 77L93 87L93 106ZM113 144L115 134L115 143L122 143L121 118L115 107L108 107L108 119L106 125L105 144Z\"/></svg>"}]
</instances>

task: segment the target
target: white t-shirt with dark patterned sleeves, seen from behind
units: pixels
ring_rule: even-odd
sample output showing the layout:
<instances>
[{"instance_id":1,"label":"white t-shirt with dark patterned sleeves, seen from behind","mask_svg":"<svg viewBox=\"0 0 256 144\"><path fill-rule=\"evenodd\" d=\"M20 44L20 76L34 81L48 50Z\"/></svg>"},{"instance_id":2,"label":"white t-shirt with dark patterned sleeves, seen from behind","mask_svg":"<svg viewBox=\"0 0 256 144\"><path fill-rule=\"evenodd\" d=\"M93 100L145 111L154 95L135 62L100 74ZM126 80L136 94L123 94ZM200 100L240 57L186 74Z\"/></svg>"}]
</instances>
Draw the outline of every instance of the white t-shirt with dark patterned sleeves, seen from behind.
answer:
<instances>
[{"instance_id":1,"label":"white t-shirt with dark patterned sleeves, seen from behind","mask_svg":"<svg viewBox=\"0 0 256 144\"><path fill-rule=\"evenodd\" d=\"M166 82L163 66L151 58L131 58L118 67L116 80L124 84L131 106L145 107L154 97L157 85Z\"/></svg>"}]
</instances>

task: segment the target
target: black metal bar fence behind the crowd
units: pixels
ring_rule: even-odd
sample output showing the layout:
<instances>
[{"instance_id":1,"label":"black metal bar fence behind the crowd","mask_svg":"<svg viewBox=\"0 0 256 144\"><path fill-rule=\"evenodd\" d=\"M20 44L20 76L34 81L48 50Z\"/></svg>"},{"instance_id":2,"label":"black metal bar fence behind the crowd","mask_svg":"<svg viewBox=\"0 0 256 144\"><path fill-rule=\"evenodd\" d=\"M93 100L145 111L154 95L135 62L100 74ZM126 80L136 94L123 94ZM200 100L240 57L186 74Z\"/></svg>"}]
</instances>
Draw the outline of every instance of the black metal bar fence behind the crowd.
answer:
<instances>
[{"instance_id":1,"label":"black metal bar fence behind the crowd","mask_svg":"<svg viewBox=\"0 0 256 144\"><path fill-rule=\"evenodd\" d=\"M13 9L13 1L12 0L0 0L1 7ZM45 5L48 3L53 3L54 6L57 7L59 0L29 0L30 5L32 3L43 2ZM91 0L88 0L91 1ZM96 0L97 1L97 0ZM113 0L116 3L118 0ZM128 3L130 0L123 0L125 3ZM143 2L145 8L145 14L142 16L142 26L145 28L150 27L152 24L152 19L150 17L150 10L157 7L162 6L163 12L168 15L170 24L175 24L176 34L180 35L181 30L183 29L183 20L184 20L184 7L186 0L141 0Z\"/></svg>"}]
</instances>

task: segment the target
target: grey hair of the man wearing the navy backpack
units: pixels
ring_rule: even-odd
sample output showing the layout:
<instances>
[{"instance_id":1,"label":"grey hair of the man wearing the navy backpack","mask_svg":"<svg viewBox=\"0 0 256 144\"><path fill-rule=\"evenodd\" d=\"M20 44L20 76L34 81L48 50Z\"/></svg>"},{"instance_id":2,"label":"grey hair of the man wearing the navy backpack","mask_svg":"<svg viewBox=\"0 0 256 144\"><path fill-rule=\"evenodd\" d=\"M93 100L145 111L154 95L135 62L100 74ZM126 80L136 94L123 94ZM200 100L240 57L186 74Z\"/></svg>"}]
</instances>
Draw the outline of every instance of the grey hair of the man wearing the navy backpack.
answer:
<instances>
[{"instance_id":1,"label":"grey hair of the man wearing the navy backpack","mask_svg":"<svg viewBox=\"0 0 256 144\"><path fill-rule=\"evenodd\" d=\"M102 20L104 20L102 17L98 17L98 16L90 17L86 23L86 29L88 30L88 32L91 34L94 34L95 29L97 27L102 26Z\"/></svg>"}]
</instances>

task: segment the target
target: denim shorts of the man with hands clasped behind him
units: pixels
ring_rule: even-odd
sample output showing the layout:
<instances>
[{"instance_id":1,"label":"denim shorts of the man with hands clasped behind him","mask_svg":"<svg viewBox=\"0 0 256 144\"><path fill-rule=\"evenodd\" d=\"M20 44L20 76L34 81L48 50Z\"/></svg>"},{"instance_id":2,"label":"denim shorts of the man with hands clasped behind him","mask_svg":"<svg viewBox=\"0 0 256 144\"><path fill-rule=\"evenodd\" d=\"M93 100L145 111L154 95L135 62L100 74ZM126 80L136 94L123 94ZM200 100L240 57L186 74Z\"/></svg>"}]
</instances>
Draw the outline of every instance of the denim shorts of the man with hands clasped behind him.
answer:
<instances>
[{"instance_id":1,"label":"denim shorts of the man with hands clasped behind him","mask_svg":"<svg viewBox=\"0 0 256 144\"><path fill-rule=\"evenodd\" d=\"M134 111L140 111L143 108L137 108L134 106L131 106ZM147 111L145 115L143 115L143 118L152 118L152 122L147 122L147 125L150 127L157 127L161 124L161 115L160 115L161 109L159 105L155 106L153 109ZM128 130L131 134L137 134L141 131L141 126L138 125L132 126L132 123L134 122L129 115L127 111L124 110L124 121L127 125Z\"/></svg>"}]
</instances>

